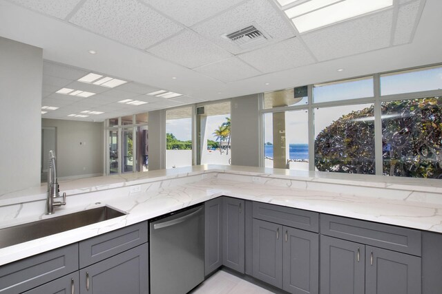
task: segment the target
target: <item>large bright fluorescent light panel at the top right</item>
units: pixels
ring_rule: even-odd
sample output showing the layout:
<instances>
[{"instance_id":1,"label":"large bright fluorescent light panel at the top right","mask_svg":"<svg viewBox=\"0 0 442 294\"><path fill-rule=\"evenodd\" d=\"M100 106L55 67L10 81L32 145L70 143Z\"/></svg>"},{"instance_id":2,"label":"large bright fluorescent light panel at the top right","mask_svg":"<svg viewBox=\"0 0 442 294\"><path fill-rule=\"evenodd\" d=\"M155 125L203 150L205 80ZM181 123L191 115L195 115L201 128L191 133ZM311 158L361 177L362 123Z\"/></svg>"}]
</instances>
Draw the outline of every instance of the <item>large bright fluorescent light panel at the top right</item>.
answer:
<instances>
[{"instance_id":1,"label":"large bright fluorescent light panel at the top right","mask_svg":"<svg viewBox=\"0 0 442 294\"><path fill-rule=\"evenodd\" d=\"M285 14L302 33L390 6L393 0L310 0L285 10Z\"/></svg>"}]
</instances>

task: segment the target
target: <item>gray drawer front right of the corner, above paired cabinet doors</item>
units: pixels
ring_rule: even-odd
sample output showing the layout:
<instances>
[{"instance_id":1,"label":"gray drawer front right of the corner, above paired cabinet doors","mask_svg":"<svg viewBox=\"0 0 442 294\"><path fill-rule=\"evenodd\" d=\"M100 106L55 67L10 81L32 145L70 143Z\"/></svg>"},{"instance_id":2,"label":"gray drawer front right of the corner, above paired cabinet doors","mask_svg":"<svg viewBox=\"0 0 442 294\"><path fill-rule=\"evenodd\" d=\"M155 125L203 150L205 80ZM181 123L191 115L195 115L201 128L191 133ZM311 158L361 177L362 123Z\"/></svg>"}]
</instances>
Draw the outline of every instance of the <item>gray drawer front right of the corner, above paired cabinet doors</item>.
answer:
<instances>
[{"instance_id":1,"label":"gray drawer front right of the corner, above paired cabinet doors","mask_svg":"<svg viewBox=\"0 0 442 294\"><path fill-rule=\"evenodd\" d=\"M319 213L313 211L253 202L253 218L315 233L319 231Z\"/></svg>"}]
</instances>

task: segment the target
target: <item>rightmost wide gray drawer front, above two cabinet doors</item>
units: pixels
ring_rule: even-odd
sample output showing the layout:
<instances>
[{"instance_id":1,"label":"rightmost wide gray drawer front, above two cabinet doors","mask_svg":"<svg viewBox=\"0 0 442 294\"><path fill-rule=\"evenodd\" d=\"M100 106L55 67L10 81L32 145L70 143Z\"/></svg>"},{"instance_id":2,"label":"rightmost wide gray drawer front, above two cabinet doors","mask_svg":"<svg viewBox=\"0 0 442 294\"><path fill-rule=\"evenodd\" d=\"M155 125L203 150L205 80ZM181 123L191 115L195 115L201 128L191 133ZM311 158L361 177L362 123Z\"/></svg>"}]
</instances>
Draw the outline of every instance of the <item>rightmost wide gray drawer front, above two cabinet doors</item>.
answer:
<instances>
[{"instance_id":1,"label":"rightmost wide gray drawer front, above two cabinet doors","mask_svg":"<svg viewBox=\"0 0 442 294\"><path fill-rule=\"evenodd\" d=\"M421 231L321 214L320 233L421 256Z\"/></svg>"}]
</instances>

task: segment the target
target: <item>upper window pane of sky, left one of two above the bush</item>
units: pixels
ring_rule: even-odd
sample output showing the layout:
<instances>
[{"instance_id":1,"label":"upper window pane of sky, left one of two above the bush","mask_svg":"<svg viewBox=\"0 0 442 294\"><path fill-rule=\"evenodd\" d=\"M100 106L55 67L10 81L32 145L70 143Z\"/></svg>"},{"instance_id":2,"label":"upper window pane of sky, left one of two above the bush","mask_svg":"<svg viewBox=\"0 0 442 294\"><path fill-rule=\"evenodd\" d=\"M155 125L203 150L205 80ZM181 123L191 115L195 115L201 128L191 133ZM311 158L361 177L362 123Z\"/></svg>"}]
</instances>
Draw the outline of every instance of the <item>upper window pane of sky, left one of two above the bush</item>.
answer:
<instances>
[{"instance_id":1,"label":"upper window pane of sky, left one of two above the bush","mask_svg":"<svg viewBox=\"0 0 442 294\"><path fill-rule=\"evenodd\" d=\"M373 77L316 84L313 87L315 103L373 97Z\"/></svg>"}]
</instances>

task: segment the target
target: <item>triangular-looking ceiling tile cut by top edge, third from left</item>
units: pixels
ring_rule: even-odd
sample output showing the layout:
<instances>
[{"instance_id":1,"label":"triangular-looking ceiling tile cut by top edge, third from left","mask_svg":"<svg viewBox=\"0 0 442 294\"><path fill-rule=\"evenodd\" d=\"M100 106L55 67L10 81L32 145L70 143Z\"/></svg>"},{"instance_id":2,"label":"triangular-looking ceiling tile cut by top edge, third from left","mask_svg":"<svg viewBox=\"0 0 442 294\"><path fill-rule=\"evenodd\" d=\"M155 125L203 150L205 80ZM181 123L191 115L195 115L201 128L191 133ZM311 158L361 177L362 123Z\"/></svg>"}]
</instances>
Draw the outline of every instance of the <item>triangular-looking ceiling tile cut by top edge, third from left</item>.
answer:
<instances>
[{"instance_id":1,"label":"triangular-looking ceiling tile cut by top edge, third from left","mask_svg":"<svg viewBox=\"0 0 442 294\"><path fill-rule=\"evenodd\" d=\"M244 0L143 0L164 14L190 27Z\"/></svg>"}]
</instances>

